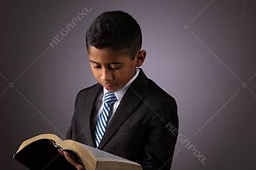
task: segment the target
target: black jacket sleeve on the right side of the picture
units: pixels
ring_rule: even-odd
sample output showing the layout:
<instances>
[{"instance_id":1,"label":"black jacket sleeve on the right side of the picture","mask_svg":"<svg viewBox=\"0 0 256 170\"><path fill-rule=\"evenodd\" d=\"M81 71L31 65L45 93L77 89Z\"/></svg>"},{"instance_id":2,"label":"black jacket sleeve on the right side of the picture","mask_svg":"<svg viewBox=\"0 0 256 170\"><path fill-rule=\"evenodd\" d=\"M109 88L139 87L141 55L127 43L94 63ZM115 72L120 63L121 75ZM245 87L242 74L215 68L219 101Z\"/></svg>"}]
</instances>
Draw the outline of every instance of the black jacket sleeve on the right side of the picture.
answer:
<instances>
[{"instance_id":1,"label":"black jacket sleeve on the right side of the picture","mask_svg":"<svg viewBox=\"0 0 256 170\"><path fill-rule=\"evenodd\" d=\"M178 137L177 104L174 99L154 111L144 149L144 170L170 170Z\"/></svg>"}]
</instances>

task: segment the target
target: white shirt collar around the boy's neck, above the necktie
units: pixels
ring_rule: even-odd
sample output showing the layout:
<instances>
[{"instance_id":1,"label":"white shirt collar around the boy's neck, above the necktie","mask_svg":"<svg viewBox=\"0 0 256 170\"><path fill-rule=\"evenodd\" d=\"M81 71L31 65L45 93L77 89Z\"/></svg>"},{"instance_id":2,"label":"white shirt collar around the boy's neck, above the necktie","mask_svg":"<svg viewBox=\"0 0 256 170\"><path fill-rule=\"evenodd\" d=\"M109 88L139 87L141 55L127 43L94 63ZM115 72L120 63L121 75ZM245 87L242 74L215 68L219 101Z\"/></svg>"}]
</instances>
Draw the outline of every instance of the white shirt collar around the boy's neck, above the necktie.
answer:
<instances>
[{"instance_id":1,"label":"white shirt collar around the boy's neck, above the necktie","mask_svg":"<svg viewBox=\"0 0 256 170\"><path fill-rule=\"evenodd\" d=\"M135 73L135 75L133 76L133 78L131 78L131 79L126 83L126 85L125 85L122 89L119 89L118 91L114 92L118 101L121 101L121 100L122 100L123 95L126 93L126 90L130 87L131 83L133 83L133 81L137 78L137 76L139 75L139 73L140 73L140 69L137 68L137 69L136 69L136 73ZM102 102L104 101L104 97L105 97L105 94L106 94L107 92L108 92L108 90L106 90L106 88L103 87Z\"/></svg>"}]
</instances>

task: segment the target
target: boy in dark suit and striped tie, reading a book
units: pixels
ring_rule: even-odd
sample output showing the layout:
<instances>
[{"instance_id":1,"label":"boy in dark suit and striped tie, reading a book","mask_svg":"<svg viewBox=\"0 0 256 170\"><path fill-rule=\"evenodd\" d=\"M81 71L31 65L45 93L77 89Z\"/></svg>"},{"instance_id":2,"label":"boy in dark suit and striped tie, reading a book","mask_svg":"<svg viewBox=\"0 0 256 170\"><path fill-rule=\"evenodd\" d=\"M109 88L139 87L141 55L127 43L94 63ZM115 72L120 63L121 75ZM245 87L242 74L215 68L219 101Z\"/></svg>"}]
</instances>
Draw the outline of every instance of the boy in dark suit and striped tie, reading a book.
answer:
<instances>
[{"instance_id":1,"label":"boy in dark suit and striped tie, reading a book","mask_svg":"<svg viewBox=\"0 0 256 170\"><path fill-rule=\"evenodd\" d=\"M169 170L178 134L166 125L178 129L177 106L139 68L146 57L141 43L140 26L126 12L104 12L92 22L86 46L99 83L78 93L67 138L140 163L144 170Z\"/></svg>"}]
</instances>

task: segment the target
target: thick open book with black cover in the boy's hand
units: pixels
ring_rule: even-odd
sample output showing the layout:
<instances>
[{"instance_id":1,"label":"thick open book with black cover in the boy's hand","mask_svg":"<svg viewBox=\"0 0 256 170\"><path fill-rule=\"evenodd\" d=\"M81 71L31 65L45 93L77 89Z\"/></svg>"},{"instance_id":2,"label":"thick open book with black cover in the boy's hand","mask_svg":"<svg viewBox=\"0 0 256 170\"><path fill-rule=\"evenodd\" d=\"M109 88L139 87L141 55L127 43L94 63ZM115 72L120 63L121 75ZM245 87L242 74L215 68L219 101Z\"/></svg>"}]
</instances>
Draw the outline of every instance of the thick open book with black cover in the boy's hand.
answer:
<instances>
[{"instance_id":1,"label":"thick open book with black cover in the boy's hand","mask_svg":"<svg viewBox=\"0 0 256 170\"><path fill-rule=\"evenodd\" d=\"M40 134L23 141L13 158L29 169L75 170L76 168L58 152L58 149L69 152L86 170L142 170L136 162L77 141L62 141L55 134Z\"/></svg>"}]
</instances>

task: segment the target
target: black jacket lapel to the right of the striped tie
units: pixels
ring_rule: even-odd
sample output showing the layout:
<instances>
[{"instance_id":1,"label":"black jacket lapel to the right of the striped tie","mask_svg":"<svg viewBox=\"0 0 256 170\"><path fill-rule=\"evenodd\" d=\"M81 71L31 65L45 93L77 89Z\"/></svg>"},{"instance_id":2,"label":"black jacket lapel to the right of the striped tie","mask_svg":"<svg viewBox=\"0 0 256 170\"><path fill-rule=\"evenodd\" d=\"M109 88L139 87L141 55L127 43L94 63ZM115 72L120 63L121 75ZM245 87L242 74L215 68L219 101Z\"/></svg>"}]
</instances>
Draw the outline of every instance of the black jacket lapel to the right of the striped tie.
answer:
<instances>
[{"instance_id":1,"label":"black jacket lapel to the right of the striped tie","mask_svg":"<svg viewBox=\"0 0 256 170\"><path fill-rule=\"evenodd\" d=\"M112 117L112 120L109 122L102 141L99 144L99 149L104 148L104 146L109 142L116 131L127 120L127 118L133 114L137 106L143 102L147 93L148 79L147 76L145 76L143 70L140 69L139 75L124 94L123 99L120 101L120 104Z\"/></svg>"}]
</instances>

